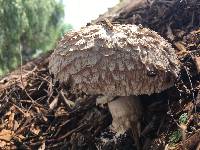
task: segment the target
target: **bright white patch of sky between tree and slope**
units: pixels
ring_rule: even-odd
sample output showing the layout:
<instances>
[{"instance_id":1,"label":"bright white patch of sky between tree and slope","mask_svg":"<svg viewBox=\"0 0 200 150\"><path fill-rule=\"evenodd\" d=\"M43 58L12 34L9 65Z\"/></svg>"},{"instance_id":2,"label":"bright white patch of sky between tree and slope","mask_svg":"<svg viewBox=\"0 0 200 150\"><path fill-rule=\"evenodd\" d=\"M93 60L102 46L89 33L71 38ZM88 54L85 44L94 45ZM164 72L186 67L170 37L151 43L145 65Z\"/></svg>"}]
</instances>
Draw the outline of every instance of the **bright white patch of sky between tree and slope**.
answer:
<instances>
[{"instance_id":1,"label":"bright white patch of sky between tree and slope","mask_svg":"<svg viewBox=\"0 0 200 150\"><path fill-rule=\"evenodd\" d=\"M119 0L63 0L65 22L72 24L74 29L78 29L118 2Z\"/></svg>"}]
</instances>

